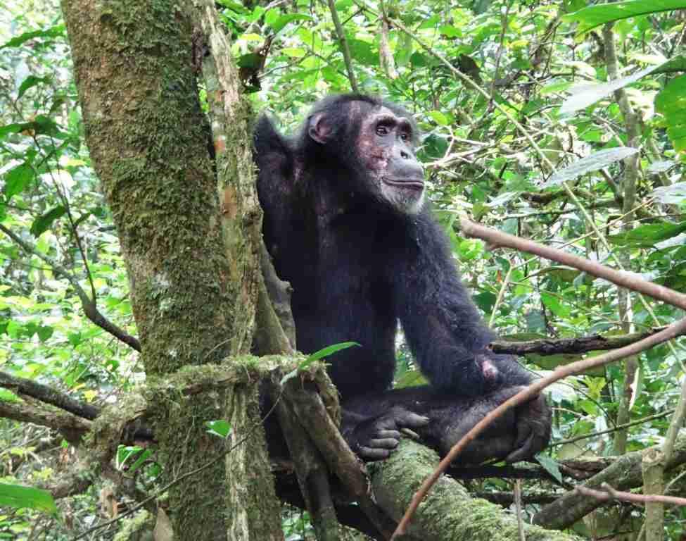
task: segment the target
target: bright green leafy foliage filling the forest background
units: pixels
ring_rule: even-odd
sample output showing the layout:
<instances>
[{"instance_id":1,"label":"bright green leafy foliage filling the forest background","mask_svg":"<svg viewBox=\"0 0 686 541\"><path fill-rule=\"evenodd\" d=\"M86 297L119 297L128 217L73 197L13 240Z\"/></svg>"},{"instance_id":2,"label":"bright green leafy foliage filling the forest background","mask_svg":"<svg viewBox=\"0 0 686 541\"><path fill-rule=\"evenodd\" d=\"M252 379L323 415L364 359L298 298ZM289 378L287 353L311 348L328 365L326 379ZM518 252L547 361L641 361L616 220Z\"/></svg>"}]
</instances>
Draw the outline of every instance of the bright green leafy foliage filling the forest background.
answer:
<instances>
[{"instance_id":1,"label":"bright green leafy foliage filling the forest background","mask_svg":"<svg viewBox=\"0 0 686 541\"><path fill-rule=\"evenodd\" d=\"M322 95L350 90L324 3L218 4L255 108L274 113L284 128L294 128ZM686 76L681 72L686 66L679 53L686 18L684 11L674 11L685 8L684 2L398 0L385 5L388 32L381 25L380 4L336 3L352 71L363 92L398 101L416 114L423 132L419 157L433 206L463 278L493 326L503 335L555 338L621 333L620 310L638 330L682 317L678 309L649 299L643 304L636 296L623 309L618 290L607 282L524 254L486 250L481 242L462 238L453 223L457 213L468 211L483 223L580 256L613 265L618 256L626 270L685 290ZM614 22L621 75L612 81L599 28L608 22ZM390 51L393 70L387 61L381 66L383 50ZM9 4L0 14L0 363L12 375L103 404L144 380L144 374L136 352L84 316L75 289L77 284L94 295L103 316L136 335L125 262L84 146L69 58L54 2ZM461 82L454 70L477 82L485 96ZM640 137L634 147L617 92L635 112ZM523 125L540 151L504 111ZM625 173L632 157L638 160L635 214L626 220ZM590 213L609 249L563 182ZM405 344L399 352L401 382L419 381ZM632 420L673 408L685 359L680 344L640 356L628 403ZM569 359L531 361L540 362L531 368L545 371ZM625 375L618 364L552 387L554 437L591 435L552 447L552 457L611 452L611 434L592 434L616 425ZM0 399L25 403L8 391ZM627 449L662 442L666 419L631 426ZM44 428L13 426L13 421L0 425L0 449L3 464L20 466L4 466L4 483L54 480L60 468L72 466L73 449L61 437ZM51 446L43 447L44 441ZM37 453L49 461L30 459ZM121 449L120 459L122 467L137 471L148 452ZM550 461L543 464L557 471ZM502 480L489 486L507 489ZM63 522L30 507L0 517L0 535L25 539L38 520L51 532L47 538L61 539L68 528L82 532L96 518L92 498L65 504L69 520ZM683 535L681 515L671 511L667 528L673 538ZM293 522L291 516L288 528Z\"/></svg>"}]
</instances>

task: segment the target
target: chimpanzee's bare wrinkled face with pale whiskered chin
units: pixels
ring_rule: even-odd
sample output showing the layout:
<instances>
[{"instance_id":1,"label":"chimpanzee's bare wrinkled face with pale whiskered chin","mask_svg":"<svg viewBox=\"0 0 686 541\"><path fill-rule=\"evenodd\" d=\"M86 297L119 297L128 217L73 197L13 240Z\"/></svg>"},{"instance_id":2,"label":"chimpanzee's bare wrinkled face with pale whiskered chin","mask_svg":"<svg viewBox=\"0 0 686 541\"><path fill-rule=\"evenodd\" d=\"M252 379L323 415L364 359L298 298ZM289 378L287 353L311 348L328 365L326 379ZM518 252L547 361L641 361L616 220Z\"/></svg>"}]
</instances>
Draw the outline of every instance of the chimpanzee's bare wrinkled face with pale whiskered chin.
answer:
<instances>
[{"instance_id":1,"label":"chimpanzee's bare wrinkled face with pale whiskered chin","mask_svg":"<svg viewBox=\"0 0 686 541\"><path fill-rule=\"evenodd\" d=\"M424 204L424 170L414 157L412 123L390 109L372 110L357 137L368 189L400 213L414 215Z\"/></svg>"}]
</instances>

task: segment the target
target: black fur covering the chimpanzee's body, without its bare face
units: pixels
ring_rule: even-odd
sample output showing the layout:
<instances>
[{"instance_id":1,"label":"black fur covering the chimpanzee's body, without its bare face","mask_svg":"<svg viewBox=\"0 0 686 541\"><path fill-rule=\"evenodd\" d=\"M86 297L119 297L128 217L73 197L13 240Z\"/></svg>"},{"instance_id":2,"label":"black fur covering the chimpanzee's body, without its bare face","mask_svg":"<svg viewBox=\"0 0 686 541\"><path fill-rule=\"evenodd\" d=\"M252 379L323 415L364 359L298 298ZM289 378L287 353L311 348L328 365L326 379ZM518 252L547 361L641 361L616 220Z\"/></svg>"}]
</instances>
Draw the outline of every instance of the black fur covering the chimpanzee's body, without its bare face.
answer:
<instances>
[{"instance_id":1,"label":"black fur covering the chimpanzee's body, without its bare face","mask_svg":"<svg viewBox=\"0 0 686 541\"><path fill-rule=\"evenodd\" d=\"M403 108L354 94L320 101L294 137L280 135L266 116L255 128L263 232L279 277L293 286L298 349L315 352L349 340L362 345L328 360L344 409L346 403L355 404L348 408L344 432L368 459L383 458L394 447L388 441L374 445L374 440L394 440L389 423L396 428L426 424L407 412L433 421L448 412L464 416L475 404L473 397L478 402L484 394L531 381L514 359L487 349L494 334L460 282L445 235L428 207L403 213L369 191L374 180L360 156L360 128L381 107L409 120L416 140L412 117ZM308 131L310 119L322 115L329 130L326 144ZM414 406L417 393L405 391L395 395L388 413L379 407L388 403L386 391L393 382L398 321L431 387L419 392L420 409ZM495 376L484 375L483 358L497 368ZM433 417L431 406L426 407L431 397L440 397L436 409L443 412ZM453 406L446 407L446 400ZM478 421L476 414L465 417L471 425ZM527 449L529 454L547 442L550 415L535 422L545 426L538 427L540 441ZM364 423L371 430L362 430ZM393 434L373 437L374 423L377 432ZM514 421L509 426L508 448L519 430Z\"/></svg>"}]
</instances>

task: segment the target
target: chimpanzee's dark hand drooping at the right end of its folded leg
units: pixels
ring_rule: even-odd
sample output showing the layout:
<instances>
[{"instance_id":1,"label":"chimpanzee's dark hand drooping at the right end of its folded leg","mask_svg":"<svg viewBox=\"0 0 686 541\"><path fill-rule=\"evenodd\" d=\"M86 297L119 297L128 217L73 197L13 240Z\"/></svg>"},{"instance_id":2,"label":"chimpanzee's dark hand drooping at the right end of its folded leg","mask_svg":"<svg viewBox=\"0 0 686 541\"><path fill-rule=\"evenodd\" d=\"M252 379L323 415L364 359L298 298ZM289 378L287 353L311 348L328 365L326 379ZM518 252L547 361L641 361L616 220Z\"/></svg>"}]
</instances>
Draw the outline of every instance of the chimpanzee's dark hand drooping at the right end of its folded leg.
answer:
<instances>
[{"instance_id":1,"label":"chimpanzee's dark hand drooping at the right end of its folded leg","mask_svg":"<svg viewBox=\"0 0 686 541\"><path fill-rule=\"evenodd\" d=\"M523 387L516 387L519 391ZM514 450L505 458L508 462L526 460L540 452L550 440L551 411L541 394L526 404L517 406Z\"/></svg>"}]
</instances>

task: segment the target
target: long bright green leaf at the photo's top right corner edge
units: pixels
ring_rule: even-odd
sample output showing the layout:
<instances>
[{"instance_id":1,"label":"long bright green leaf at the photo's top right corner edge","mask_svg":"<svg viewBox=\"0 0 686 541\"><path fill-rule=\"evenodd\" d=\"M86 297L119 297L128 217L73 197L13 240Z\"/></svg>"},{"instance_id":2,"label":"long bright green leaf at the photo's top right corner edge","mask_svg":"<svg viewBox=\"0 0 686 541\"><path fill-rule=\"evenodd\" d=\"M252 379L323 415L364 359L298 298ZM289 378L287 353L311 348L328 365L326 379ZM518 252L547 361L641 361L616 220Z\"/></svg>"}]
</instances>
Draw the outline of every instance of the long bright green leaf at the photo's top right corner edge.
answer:
<instances>
[{"instance_id":1,"label":"long bright green leaf at the photo's top right corner edge","mask_svg":"<svg viewBox=\"0 0 686 541\"><path fill-rule=\"evenodd\" d=\"M577 32L587 32L597 26L611 23L613 20L684 8L686 8L686 0L628 0L614 4L588 6L564 15L563 19L578 22Z\"/></svg>"}]
</instances>

